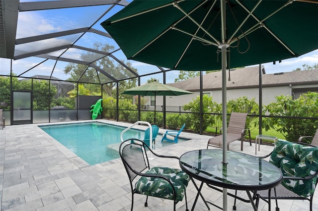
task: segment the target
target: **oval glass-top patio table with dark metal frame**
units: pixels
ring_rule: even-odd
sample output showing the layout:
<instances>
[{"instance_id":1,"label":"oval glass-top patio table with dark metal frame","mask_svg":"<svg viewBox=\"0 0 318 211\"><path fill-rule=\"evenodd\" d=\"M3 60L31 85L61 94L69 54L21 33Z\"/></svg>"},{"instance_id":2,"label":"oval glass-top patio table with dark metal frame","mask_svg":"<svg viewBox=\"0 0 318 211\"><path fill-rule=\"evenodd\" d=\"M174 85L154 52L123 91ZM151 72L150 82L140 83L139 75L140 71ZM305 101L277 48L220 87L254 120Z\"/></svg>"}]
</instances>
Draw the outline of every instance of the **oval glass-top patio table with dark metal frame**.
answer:
<instances>
[{"instance_id":1,"label":"oval glass-top patio table with dark metal frame","mask_svg":"<svg viewBox=\"0 0 318 211\"><path fill-rule=\"evenodd\" d=\"M207 149L190 151L180 157L179 164L181 169L191 177L191 180L195 178L201 181L199 188L193 181L198 190L198 194L192 210L195 207L199 195L201 195L204 200L201 194L204 183L211 188L214 188L213 186L218 186L234 190L245 190L249 198L247 201L230 193L228 193L228 195L244 202L250 202L253 209L257 210L250 191L271 189L279 185L283 179L283 175L279 168L261 158L228 151L228 164L223 164L222 156L222 150ZM220 189L216 190L222 191ZM206 205L209 203L216 206L205 200L204 203ZM207 207L209 208L208 205Z\"/></svg>"}]
</instances>

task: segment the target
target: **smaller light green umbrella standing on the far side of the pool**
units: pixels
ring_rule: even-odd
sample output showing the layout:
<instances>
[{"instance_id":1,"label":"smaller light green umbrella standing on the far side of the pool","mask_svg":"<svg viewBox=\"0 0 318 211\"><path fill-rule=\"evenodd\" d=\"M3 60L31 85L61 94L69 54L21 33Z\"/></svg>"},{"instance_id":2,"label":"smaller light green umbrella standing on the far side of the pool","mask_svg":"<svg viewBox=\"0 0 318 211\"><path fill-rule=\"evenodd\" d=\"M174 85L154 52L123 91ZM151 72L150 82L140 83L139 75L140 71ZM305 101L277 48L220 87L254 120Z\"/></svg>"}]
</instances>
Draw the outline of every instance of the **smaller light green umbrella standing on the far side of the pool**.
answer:
<instances>
[{"instance_id":1,"label":"smaller light green umbrella standing on the far side of the pool","mask_svg":"<svg viewBox=\"0 0 318 211\"><path fill-rule=\"evenodd\" d=\"M192 92L178 89L160 83L149 83L142 86L127 89L121 94L140 95L140 96L155 96L155 124L156 124L156 96L179 96L193 94Z\"/></svg>"}]
</instances>

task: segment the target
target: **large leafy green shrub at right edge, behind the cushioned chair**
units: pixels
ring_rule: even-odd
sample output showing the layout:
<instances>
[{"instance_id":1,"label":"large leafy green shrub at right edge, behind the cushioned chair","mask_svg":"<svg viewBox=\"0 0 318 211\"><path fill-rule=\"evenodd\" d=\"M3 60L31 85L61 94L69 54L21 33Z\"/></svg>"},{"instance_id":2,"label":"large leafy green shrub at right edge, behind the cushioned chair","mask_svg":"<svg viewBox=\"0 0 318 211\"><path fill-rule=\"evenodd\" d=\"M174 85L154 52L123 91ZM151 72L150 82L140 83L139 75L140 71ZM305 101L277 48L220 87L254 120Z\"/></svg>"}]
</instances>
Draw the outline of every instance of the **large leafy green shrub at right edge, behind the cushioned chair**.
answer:
<instances>
[{"instance_id":1,"label":"large leafy green shrub at right edge, behind the cushioned chair","mask_svg":"<svg viewBox=\"0 0 318 211\"><path fill-rule=\"evenodd\" d=\"M265 106L263 112L273 116L318 117L318 93L308 92L293 100L291 96L276 96L276 102ZM275 129L285 135L288 141L297 141L300 136L314 136L318 120L302 118L266 118L262 124L265 130Z\"/></svg>"}]
</instances>

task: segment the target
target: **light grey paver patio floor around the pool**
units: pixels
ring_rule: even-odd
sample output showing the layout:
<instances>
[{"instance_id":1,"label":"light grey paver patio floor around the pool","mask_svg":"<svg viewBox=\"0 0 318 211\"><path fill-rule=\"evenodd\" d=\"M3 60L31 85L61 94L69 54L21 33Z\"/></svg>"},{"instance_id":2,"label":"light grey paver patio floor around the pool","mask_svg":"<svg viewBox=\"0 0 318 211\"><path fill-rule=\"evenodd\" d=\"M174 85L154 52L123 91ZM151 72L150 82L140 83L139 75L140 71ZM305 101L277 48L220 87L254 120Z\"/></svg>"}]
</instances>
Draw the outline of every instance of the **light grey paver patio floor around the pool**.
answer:
<instances>
[{"instance_id":1,"label":"light grey paver patio floor around the pool","mask_svg":"<svg viewBox=\"0 0 318 211\"><path fill-rule=\"evenodd\" d=\"M128 123L98 120L121 126ZM65 122L64 122L65 123ZM131 190L121 159L89 165L58 141L37 127L39 124L5 126L0 130L0 207L1 211L129 211ZM137 125L135 128L145 129ZM159 129L159 133L165 130ZM181 156L183 153L205 149L211 136L182 132L180 137L191 140L156 149L158 154ZM257 156L271 152L273 146L262 145ZM240 151L240 141L233 142L230 150ZM255 144L244 142L243 153L254 155ZM152 165L179 168L175 160L154 159ZM229 192L232 190L229 190ZM191 209L196 189L191 182L187 188L188 206ZM204 186L205 198L222 207L220 192ZM247 198L244 191L239 195ZM318 211L317 193L313 209ZM173 202L150 198L144 207L146 197L135 195L136 211L170 211ZM178 211L185 210L185 201L177 204ZM228 197L228 209L232 210L234 199ZM238 211L251 211L250 204L237 201ZM274 201L273 201L274 203ZM274 204L273 204L274 205ZM281 211L309 210L309 201L280 200ZM213 206L211 210L218 210ZM259 210L267 210L267 204L260 201ZM207 210L199 198L196 211ZM275 210L275 206L272 206Z\"/></svg>"}]
</instances>

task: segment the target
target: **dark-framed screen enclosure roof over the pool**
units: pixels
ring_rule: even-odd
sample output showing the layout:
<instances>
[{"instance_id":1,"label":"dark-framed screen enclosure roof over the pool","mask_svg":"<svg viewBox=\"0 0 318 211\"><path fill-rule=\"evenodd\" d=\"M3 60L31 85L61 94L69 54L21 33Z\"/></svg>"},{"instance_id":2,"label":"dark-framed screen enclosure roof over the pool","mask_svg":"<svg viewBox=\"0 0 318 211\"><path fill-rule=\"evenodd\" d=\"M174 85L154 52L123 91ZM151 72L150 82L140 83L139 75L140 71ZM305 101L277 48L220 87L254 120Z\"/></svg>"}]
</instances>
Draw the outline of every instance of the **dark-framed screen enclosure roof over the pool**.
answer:
<instances>
[{"instance_id":1,"label":"dark-framed screen enclosure roof over the pool","mask_svg":"<svg viewBox=\"0 0 318 211\"><path fill-rule=\"evenodd\" d=\"M83 74L96 71L99 80L94 83L167 71L149 64L147 73L138 70L141 62L127 61L100 26L130 1L0 0L0 62L12 59L11 69L19 77L48 75L66 81L70 75L65 69L73 65Z\"/></svg>"}]
</instances>

